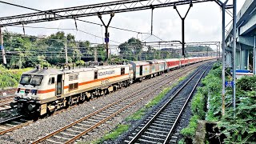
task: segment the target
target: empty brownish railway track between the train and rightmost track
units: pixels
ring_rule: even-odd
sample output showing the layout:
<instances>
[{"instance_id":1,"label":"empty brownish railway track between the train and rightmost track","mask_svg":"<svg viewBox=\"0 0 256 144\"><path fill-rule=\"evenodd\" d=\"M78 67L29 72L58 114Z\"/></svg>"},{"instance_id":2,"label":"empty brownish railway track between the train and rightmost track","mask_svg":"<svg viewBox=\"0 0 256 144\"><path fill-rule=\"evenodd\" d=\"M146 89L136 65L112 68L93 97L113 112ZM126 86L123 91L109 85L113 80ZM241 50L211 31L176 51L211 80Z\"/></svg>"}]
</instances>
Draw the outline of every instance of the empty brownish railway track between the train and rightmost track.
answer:
<instances>
[{"instance_id":1,"label":"empty brownish railway track between the train and rightmost track","mask_svg":"<svg viewBox=\"0 0 256 144\"><path fill-rule=\"evenodd\" d=\"M194 69L190 68L190 70ZM85 134L90 134L97 127L102 126L103 123L109 121L111 118L114 118L116 115L122 113L124 110L128 110L130 106L133 106L135 103L140 102L142 98L146 98L153 94L156 90L165 86L166 84L172 82L174 83L174 78L182 76L186 72L178 71L175 74L170 74L169 77L162 78L158 82L154 82L149 86L144 87L142 90L135 91L134 93L122 98L116 102L109 104L108 106L103 107L100 110L94 111L91 114L86 115L84 118L80 118L75 122L70 123L67 126L62 127L59 130L47 134L42 138L32 143L44 142L44 143L71 143L82 138ZM146 91L146 94L142 94L142 91Z\"/></svg>"}]
</instances>

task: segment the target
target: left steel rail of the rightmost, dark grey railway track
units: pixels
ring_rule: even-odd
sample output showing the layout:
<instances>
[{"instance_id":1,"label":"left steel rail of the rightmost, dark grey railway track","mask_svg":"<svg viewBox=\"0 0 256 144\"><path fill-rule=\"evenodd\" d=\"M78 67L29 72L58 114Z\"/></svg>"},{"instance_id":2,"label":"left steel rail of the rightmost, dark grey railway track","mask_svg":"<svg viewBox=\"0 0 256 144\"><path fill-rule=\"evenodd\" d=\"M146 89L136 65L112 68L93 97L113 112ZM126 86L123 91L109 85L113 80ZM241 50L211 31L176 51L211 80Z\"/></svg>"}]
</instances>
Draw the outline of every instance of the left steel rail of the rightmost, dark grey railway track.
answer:
<instances>
[{"instance_id":1,"label":"left steel rail of the rightmost, dark grey railway track","mask_svg":"<svg viewBox=\"0 0 256 144\"><path fill-rule=\"evenodd\" d=\"M154 114L154 117L150 119L149 122L146 123L145 126L142 127L142 129L138 132L138 134L136 134L134 136L134 138L129 142L129 144L135 143L136 141L138 141L138 138L140 138L142 136L142 134L147 130L147 128L152 124L152 122L154 122L155 118L158 117L159 114L162 113L163 110L165 110L166 106L169 105L169 103L183 90L183 88L203 69L204 67L202 67L200 70L198 70L193 76L191 76L191 78L189 80L187 80L187 82L170 98L170 100L168 100L166 102L166 104L164 106L162 106L162 108L160 110L158 110L157 114ZM200 80L200 79L199 79Z\"/></svg>"}]
</instances>

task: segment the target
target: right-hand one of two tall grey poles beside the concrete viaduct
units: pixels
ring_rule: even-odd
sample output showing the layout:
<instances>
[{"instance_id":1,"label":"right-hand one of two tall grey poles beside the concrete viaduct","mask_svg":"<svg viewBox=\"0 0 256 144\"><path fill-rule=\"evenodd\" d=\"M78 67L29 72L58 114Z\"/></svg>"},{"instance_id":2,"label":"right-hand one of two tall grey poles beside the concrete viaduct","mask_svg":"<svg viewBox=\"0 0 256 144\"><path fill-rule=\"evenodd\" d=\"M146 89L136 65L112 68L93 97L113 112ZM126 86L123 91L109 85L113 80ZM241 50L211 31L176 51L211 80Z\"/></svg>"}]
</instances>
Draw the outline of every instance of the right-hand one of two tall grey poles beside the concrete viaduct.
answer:
<instances>
[{"instance_id":1,"label":"right-hand one of two tall grey poles beside the concrete viaduct","mask_svg":"<svg viewBox=\"0 0 256 144\"><path fill-rule=\"evenodd\" d=\"M235 90L236 90L236 83L235 83L235 78L236 78L236 74L235 74L235 52L236 52L236 28L237 28L237 0L233 0L233 82L234 82L234 87L233 87L233 108L234 108L234 117L235 117L235 108L236 108L236 104L235 104Z\"/></svg>"}]
</instances>

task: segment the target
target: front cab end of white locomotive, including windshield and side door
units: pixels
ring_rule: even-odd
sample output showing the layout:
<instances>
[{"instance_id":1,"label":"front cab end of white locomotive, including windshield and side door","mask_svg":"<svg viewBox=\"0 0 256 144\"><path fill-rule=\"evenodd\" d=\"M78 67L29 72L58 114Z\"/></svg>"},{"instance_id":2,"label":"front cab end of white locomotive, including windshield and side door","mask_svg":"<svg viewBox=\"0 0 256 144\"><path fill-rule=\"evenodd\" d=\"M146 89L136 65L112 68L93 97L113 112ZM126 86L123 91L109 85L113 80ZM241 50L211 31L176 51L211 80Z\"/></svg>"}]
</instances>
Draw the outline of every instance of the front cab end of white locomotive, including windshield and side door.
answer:
<instances>
[{"instance_id":1,"label":"front cab end of white locomotive, including windshield and side door","mask_svg":"<svg viewBox=\"0 0 256 144\"><path fill-rule=\"evenodd\" d=\"M10 106L17 107L21 114L38 114L42 111L42 102L55 94L62 94L62 72L60 70L48 68L30 70L22 74L14 102Z\"/></svg>"}]
</instances>

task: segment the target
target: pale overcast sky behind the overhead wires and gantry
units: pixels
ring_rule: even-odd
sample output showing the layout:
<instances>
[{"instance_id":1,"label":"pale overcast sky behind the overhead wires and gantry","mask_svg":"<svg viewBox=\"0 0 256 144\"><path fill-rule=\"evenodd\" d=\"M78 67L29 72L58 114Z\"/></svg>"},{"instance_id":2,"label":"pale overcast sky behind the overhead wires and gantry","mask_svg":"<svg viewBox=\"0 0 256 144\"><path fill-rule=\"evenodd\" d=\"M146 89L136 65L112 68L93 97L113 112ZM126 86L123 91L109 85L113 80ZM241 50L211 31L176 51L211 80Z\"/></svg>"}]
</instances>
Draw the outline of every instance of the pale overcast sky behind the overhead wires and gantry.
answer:
<instances>
[{"instance_id":1,"label":"pale overcast sky behind the overhead wires and gantry","mask_svg":"<svg viewBox=\"0 0 256 144\"><path fill-rule=\"evenodd\" d=\"M85 6L88 4L99 2L111 2L102 0L4 0L14 4L28 6L38 10L58 9L70 6ZM114 1L114 0L112 0ZM166 0L162 0L165 2ZM177 0L172 0L177 1ZM238 11L241 9L246 0L238 0ZM232 2L232 0L230 0ZM182 16L186 13L189 6L178 6L178 10ZM33 10L26 10L15 6L8 6L0 3L0 17L11 16L15 14L26 14L34 12ZM140 32L150 33L150 17L151 10L140 10L134 12L118 13L114 15L110 26L125 28L128 30L135 30ZM108 21L110 15L103 15L104 21ZM226 22L230 21L230 16L226 16ZM90 22L101 23L97 16L81 18ZM190 9L186 17L185 23L185 40L186 42L209 42L221 41L221 24L222 14L220 7L215 2L196 3ZM46 26L55 28L71 28L75 29L74 20L66 19L54 22L41 22L29 24L27 26ZM22 28L8 26L7 30L22 33ZM95 26L86 22L78 22L78 29L86 31L90 34L95 34L104 37L104 29L101 26ZM229 29L229 26L228 26ZM84 34L76 30L61 30L65 33L71 33L76 36L77 40L89 40L90 42L101 43L102 38L96 38L89 34ZM123 30L115 30L110 28L110 39L116 42L126 42L129 38L134 37L140 40L149 37L147 34L136 34ZM58 30L45 29L31 29L26 28L26 34L29 35L50 35L58 32ZM157 35L165 41L182 40L182 20L179 18L177 12L173 7L165 7L154 9L154 27L153 34ZM158 38L151 36L146 41L159 41ZM118 43L110 42L110 44L118 45Z\"/></svg>"}]
</instances>

